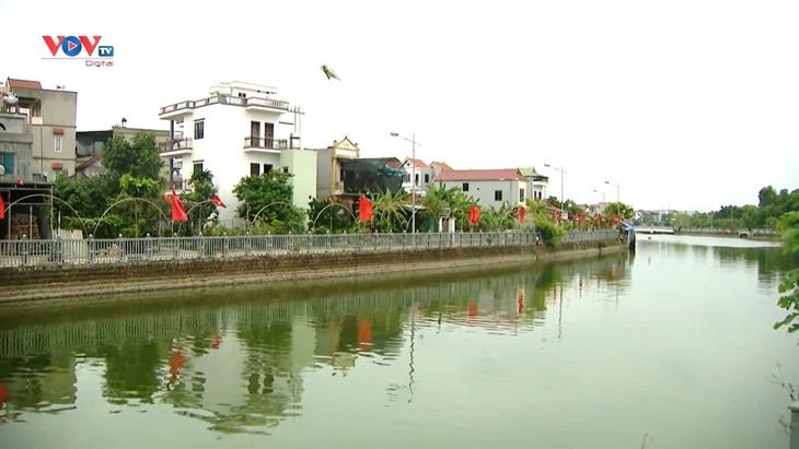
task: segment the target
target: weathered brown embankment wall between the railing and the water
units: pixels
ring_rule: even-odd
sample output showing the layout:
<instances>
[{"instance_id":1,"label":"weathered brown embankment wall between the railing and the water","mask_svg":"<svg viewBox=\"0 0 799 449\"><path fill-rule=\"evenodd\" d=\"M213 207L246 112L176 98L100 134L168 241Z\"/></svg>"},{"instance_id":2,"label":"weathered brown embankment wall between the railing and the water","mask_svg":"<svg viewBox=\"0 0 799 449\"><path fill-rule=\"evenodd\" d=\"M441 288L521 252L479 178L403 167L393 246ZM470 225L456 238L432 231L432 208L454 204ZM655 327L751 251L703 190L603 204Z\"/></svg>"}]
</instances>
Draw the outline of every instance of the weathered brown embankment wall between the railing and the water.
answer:
<instances>
[{"instance_id":1,"label":"weathered brown embankment wall between the railing and the water","mask_svg":"<svg viewBox=\"0 0 799 449\"><path fill-rule=\"evenodd\" d=\"M392 252L283 253L0 269L0 303L574 259L625 250L618 240L544 247L442 248Z\"/></svg>"}]
</instances>

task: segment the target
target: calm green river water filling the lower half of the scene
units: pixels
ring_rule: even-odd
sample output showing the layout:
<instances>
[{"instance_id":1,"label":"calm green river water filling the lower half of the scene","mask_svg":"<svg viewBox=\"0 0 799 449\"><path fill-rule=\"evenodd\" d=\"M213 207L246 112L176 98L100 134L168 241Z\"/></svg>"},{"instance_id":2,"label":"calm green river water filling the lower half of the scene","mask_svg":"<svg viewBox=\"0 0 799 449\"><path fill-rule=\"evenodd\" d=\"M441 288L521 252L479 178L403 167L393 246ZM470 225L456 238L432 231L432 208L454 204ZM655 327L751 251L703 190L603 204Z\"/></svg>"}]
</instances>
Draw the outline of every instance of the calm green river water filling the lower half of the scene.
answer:
<instances>
[{"instance_id":1,"label":"calm green river water filling the lower half of the scene","mask_svg":"<svg viewBox=\"0 0 799 449\"><path fill-rule=\"evenodd\" d=\"M0 308L1 448L787 448L768 243Z\"/></svg>"}]
</instances>

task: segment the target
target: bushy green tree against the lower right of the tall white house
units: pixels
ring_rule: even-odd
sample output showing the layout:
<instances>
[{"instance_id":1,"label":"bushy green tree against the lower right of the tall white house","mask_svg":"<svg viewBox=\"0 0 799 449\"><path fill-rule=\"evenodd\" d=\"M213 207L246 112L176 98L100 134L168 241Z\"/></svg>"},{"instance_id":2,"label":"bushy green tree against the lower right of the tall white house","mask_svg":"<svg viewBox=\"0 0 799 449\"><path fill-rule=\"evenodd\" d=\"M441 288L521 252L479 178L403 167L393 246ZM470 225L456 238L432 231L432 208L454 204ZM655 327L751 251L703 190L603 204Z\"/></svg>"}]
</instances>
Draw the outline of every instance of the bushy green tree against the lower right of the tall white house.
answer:
<instances>
[{"instance_id":1,"label":"bushy green tree against the lower right of the tall white house","mask_svg":"<svg viewBox=\"0 0 799 449\"><path fill-rule=\"evenodd\" d=\"M271 170L260 176L242 178L233 187L240 205L236 215L253 223L256 229L273 234L304 233L305 213L293 205L293 175ZM260 227L257 227L260 226Z\"/></svg>"}]
</instances>

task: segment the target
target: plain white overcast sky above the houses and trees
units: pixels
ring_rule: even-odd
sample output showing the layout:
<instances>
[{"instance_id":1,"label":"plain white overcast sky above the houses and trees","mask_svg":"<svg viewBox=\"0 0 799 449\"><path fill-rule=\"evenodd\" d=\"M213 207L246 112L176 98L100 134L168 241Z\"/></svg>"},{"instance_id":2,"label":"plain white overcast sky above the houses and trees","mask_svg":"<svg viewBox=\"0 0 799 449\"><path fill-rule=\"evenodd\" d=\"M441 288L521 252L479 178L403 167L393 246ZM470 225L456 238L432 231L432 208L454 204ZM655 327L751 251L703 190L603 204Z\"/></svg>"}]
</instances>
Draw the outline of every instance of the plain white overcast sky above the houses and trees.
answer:
<instances>
[{"instance_id":1,"label":"plain white overcast sky above the houses and trees","mask_svg":"<svg viewBox=\"0 0 799 449\"><path fill-rule=\"evenodd\" d=\"M0 16L2 81L78 92L78 131L169 129L160 107L242 81L302 108L303 146L346 135L402 159L397 132L426 163L533 166L579 203L715 211L799 188L796 0L0 0ZM56 35L102 36L114 67L44 59Z\"/></svg>"}]
</instances>

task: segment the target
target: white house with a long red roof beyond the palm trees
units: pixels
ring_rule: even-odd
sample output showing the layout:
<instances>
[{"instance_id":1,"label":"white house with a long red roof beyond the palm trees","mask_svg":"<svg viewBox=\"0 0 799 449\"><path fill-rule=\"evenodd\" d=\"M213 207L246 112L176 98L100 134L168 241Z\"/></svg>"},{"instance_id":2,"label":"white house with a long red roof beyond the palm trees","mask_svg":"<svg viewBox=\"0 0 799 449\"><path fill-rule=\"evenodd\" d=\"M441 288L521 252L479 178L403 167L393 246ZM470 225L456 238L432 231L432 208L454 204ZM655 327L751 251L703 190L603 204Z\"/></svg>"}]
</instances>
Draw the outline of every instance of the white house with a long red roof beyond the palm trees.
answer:
<instances>
[{"instance_id":1,"label":"white house with a long red roof beyond the palm trees","mask_svg":"<svg viewBox=\"0 0 799 449\"><path fill-rule=\"evenodd\" d=\"M448 189L458 187L484 208L516 206L530 192L530 180L518 168L443 170L433 181Z\"/></svg>"}]
</instances>

